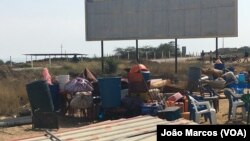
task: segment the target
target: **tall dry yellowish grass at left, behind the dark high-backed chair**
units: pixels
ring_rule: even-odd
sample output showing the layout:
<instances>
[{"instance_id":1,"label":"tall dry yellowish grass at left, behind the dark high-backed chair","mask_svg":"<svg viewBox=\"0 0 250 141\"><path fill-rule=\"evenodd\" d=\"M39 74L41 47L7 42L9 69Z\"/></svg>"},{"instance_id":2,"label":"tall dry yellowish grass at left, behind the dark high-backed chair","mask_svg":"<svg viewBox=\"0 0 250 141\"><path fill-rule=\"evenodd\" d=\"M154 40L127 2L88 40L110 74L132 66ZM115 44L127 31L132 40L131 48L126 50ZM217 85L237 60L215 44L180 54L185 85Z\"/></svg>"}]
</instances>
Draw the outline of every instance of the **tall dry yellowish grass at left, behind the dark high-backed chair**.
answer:
<instances>
[{"instance_id":1,"label":"tall dry yellowish grass at left, behind the dark high-backed chair","mask_svg":"<svg viewBox=\"0 0 250 141\"><path fill-rule=\"evenodd\" d=\"M54 61L53 67L49 68L51 76L70 74L78 75L85 68L95 73L100 73L101 63L99 61L84 61L79 63ZM22 66L27 66L24 64ZM58 67L59 66L59 67ZM20 65L18 66L20 67ZM48 62L34 62L34 67L49 67ZM27 69L13 71L8 66L0 66L0 116L17 115L19 109L28 103L26 84L41 79L42 69Z\"/></svg>"}]
</instances>

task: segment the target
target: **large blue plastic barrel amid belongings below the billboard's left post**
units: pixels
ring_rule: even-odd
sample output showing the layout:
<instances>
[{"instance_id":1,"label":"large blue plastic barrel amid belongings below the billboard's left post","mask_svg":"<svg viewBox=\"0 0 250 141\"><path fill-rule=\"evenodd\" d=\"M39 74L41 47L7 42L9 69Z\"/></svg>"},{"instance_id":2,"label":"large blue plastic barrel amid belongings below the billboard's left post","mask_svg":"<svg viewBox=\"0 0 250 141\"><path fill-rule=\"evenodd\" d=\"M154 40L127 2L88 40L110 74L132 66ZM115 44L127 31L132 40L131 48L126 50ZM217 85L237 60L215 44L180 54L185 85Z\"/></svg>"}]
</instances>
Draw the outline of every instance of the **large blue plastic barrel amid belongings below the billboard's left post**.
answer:
<instances>
[{"instance_id":1,"label":"large blue plastic barrel amid belongings below the billboard's left post","mask_svg":"<svg viewBox=\"0 0 250 141\"><path fill-rule=\"evenodd\" d=\"M98 78L102 108L114 108L121 104L121 78Z\"/></svg>"}]
</instances>

